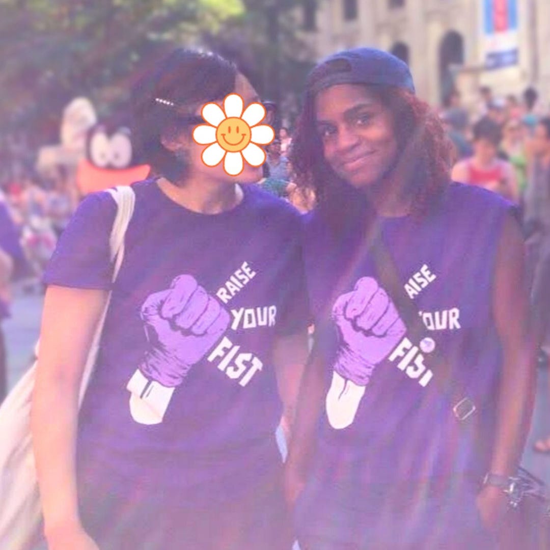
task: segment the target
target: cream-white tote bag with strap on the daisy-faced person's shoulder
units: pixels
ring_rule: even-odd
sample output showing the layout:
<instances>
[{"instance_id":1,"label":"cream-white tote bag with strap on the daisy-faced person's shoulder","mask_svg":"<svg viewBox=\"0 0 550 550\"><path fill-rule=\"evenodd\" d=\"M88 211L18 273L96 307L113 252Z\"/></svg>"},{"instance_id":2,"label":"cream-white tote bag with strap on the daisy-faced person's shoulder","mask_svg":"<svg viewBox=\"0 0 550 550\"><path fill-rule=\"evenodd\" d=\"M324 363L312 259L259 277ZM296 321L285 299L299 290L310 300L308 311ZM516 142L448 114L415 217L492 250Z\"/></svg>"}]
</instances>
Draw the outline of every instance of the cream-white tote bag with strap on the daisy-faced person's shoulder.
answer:
<instances>
[{"instance_id":1,"label":"cream-white tote bag with strap on the daisy-faced person's shoulder","mask_svg":"<svg viewBox=\"0 0 550 550\"><path fill-rule=\"evenodd\" d=\"M124 257L124 235L134 211L135 195L130 187L109 189L117 202L117 215L109 245L114 260L113 282ZM86 360L79 404L94 369L103 323L111 295L97 326ZM38 344L37 344L38 353ZM27 550L40 538L41 507L34 454L30 410L36 362L0 406L0 549Z\"/></svg>"}]
</instances>

